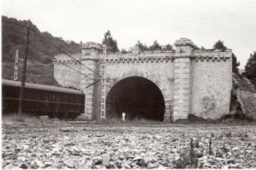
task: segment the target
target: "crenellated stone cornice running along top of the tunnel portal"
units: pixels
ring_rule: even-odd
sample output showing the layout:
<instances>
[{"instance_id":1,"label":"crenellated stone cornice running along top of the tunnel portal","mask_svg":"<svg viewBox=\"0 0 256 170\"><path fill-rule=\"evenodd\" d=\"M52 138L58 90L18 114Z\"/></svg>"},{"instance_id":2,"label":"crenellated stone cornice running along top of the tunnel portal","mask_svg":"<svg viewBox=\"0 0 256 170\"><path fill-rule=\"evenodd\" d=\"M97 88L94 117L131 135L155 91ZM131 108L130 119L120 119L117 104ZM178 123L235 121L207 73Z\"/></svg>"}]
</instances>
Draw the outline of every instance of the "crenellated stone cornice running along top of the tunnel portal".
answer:
<instances>
[{"instance_id":1,"label":"crenellated stone cornice running along top of the tunnel portal","mask_svg":"<svg viewBox=\"0 0 256 170\"><path fill-rule=\"evenodd\" d=\"M60 55L59 55L60 56ZM161 51L161 52L146 52L146 53L113 53L113 54L107 54L106 56L106 62L110 63L133 63L133 62L168 62L173 61L177 58L191 58L198 60L221 60L224 61L226 59L230 59L232 56L232 50L194 50L191 55L187 55L186 53L175 53L175 51ZM61 58L61 57L58 57ZM100 61L102 62L103 54L99 54L97 56L87 56L82 57L79 61L84 60L93 60L93 61ZM72 59L55 59L55 63L64 62L66 64L72 64L77 63Z\"/></svg>"}]
</instances>

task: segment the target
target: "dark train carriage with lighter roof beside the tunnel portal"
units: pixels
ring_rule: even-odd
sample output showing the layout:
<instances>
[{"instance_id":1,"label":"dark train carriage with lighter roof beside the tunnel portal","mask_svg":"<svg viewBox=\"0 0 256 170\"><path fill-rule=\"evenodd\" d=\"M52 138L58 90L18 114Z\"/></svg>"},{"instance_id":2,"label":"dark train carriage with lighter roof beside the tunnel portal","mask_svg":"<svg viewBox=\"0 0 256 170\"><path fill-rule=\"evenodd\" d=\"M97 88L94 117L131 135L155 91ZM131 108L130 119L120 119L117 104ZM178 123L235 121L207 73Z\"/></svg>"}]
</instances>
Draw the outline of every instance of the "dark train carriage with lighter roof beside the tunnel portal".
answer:
<instances>
[{"instance_id":1,"label":"dark train carriage with lighter roof beside the tunnel portal","mask_svg":"<svg viewBox=\"0 0 256 170\"><path fill-rule=\"evenodd\" d=\"M17 113L20 99L20 81L2 80L2 113ZM23 112L75 119L84 113L84 93L63 87L26 83Z\"/></svg>"}]
</instances>

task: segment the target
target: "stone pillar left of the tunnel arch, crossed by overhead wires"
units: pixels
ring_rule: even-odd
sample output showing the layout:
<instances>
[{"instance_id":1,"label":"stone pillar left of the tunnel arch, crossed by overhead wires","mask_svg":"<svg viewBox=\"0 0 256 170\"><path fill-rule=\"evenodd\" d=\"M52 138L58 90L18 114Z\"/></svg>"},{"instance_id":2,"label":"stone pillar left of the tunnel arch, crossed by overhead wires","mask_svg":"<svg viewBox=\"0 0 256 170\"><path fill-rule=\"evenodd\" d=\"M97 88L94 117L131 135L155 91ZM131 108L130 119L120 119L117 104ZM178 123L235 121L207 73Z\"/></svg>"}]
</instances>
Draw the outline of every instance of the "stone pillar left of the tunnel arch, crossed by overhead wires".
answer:
<instances>
[{"instance_id":1,"label":"stone pillar left of the tunnel arch, crossed by overhead wires","mask_svg":"<svg viewBox=\"0 0 256 170\"><path fill-rule=\"evenodd\" d=\"M81 63L87 66L87 68L90 68L91 70L96 71L98 74L100 74L98 53L102 52L102 47L94 42L87 42L86 44L82 44L81 49ZM97 84L94 84L93 86L90 86L87 89L86 87L93 83L95 80L99 80L100 77L92 71L90 71L89 69L85 68L83 65L81 65L81 73L86 74L88 76L87 78L83 77L81 79L80 86L80 89L84 90L84 92L87 93L87 99L85 99L84 105L84 116L87 119L96 119L96 113L98 112L97 104L98 100L100 99L99 94L97 94L98 87ZM93 78L94 80L92 80L91 78Z\"/></svg>"}]
</instances>

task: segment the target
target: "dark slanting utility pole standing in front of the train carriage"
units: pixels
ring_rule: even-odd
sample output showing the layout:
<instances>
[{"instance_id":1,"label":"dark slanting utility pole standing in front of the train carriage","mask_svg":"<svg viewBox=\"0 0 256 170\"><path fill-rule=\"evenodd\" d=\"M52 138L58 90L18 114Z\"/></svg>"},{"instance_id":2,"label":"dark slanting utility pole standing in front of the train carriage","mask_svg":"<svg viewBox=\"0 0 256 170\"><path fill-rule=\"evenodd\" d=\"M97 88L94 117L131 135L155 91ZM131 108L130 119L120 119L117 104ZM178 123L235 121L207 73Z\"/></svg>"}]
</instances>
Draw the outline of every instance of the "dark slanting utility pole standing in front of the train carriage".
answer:
<instances>
[{"instance_id":1,"label":"dark slanting utility pole standing in front of the train carriage","mask_svg":"<svg viewBox=\"0 0 256 170\"><path fill-rule=\"evenodd\" d=\"M26 53L25 53L25 58L23 59L23 75L22 75L21 87L20 87L19 115L21 115L23 112L23 98L24 98L25 81L26 81L26 62L28 60L28 53L29 53L29 32L30 32L30 20L28 23L28 32L27 32L27 35L25 36Z\"/></svg>"}]
</instances>

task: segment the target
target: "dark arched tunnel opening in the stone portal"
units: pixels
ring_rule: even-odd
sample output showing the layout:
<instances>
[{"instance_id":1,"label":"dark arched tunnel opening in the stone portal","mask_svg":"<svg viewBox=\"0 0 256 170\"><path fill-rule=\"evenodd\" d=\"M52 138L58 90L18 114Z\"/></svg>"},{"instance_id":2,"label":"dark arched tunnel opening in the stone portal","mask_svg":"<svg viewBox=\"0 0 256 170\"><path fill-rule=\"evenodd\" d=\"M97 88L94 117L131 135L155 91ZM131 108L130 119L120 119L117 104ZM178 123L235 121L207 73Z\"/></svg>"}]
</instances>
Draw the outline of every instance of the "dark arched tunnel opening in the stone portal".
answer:
<instances>
[{"instance_id":1,"label":"dark arched tunnel opening in the stone portal","mask_svg":"<svg viewBox=\"0 0 256 170\"><path fill-rule=\"evenodd\" d=\"M144 77L127 77L117 82L106 100L107 118L126 120L148 119L163 121L165 103L155 83Z\"/></svg>"}]
</instances>

